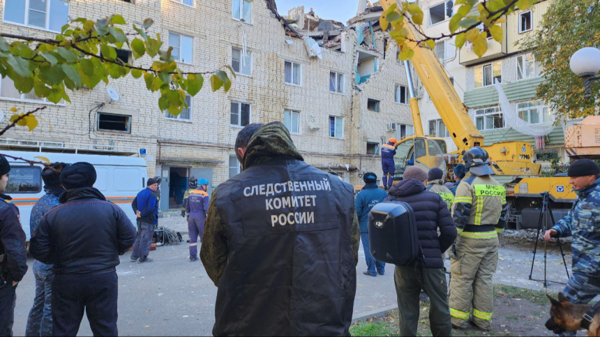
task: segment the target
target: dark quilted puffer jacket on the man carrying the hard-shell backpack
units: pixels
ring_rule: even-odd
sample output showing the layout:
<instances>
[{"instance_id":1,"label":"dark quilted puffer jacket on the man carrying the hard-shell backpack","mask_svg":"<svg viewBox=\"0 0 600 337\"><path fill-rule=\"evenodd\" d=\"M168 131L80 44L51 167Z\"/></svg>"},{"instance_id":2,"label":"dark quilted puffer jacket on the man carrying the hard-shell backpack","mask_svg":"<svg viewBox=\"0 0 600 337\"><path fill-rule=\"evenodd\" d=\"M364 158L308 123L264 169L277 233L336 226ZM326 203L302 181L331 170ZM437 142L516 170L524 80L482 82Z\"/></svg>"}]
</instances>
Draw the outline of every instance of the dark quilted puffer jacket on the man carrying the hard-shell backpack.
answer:
<instances>
[{"instance_id":1,"label":"dark quilted puffer jacket on the man carrying the hard-shell backpack","mask_svg":"<svg viewBox=\"0 0 600 337\"><path fill-rule=\"evenodd\" d=\"M448 205L440 195L426 190L425 185L417 179L407 179L389 189L386 200L403 201L410 204L417 220L419 242L425 255L426 268L443 268L442 253L456 239L456 227ZM440 236L437 229L440 229Z\"/></svg>"}]
</instances>

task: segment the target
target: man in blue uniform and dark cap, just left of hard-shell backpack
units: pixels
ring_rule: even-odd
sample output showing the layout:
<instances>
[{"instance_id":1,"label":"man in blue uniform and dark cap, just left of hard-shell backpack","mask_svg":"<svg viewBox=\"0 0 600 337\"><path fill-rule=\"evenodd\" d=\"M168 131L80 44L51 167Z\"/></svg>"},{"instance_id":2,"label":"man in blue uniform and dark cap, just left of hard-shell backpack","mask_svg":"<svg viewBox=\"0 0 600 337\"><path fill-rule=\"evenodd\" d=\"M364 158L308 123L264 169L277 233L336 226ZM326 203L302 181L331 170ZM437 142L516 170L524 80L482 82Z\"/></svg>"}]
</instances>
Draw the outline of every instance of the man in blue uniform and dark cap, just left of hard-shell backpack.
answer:
<instances>
[{"instance_id":1,"label":"man in blue uniform and dark cap, just left of hard-shell backpack","mask_svg":"<svg viewBox=\"0 0 600 337\"><path fill-rule=\"evenodd\" d=\"M364 271L363 274L377 276L377 273L379 273L383 275L385 274L385 263L375 261L369 250L368 223L369 212L376 204L379 204L387 197L387 193L377 186L377 174L366 172L363 175L363 181L365 182L365 186L363 186L357 195L357 199L354 200L354 207L357 209L357 218L361 227L361 241L363 242L365 260L367 262L367 271Z\"/></svg>"}]
</instances>

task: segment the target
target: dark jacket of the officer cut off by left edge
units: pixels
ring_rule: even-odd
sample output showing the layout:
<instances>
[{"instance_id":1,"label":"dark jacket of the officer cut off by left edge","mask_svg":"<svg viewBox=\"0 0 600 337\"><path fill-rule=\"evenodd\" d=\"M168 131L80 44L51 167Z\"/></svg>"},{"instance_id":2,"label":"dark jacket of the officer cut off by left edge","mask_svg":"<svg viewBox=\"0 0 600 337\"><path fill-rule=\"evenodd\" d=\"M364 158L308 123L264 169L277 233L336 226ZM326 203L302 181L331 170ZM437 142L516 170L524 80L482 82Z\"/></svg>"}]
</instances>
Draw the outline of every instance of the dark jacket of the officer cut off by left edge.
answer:
<instances>
[{"instance_id":1,"label":"dark jacket of the officer cut off by left edge","mask_svg":"<svg viewBox=\"0 0 600 337\"><path fill-rule=\"evenodd\" d=\"M27 237L21 227L19 209L8 203L11 199L0 194L0 255L4 255L0 272L7 283L19 282L27 273Z\"/></svg>"}]
</instances>

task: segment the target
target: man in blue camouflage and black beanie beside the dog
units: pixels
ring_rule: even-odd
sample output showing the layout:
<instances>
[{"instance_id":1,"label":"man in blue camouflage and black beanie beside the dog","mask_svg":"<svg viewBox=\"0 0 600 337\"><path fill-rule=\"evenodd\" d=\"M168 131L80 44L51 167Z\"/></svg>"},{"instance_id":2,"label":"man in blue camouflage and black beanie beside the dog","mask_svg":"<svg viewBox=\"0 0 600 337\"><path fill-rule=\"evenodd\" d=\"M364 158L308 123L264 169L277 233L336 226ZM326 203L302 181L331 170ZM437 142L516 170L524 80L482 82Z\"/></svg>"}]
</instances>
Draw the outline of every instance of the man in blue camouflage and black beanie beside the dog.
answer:
<instances>
[{"instance_id":1,"label":"man in blue camouflage and black beanie beside the dog","mask_svg":"<svg viewBox=\"0 0 600 337\"><path fill-rule=\"evenodd\" d=\"M580 159L571 164L567 174L577 199L544 239L573 236L573 274L562 294L573 304L588 304L600 294L600 167L592 160ZM575 332L566 334L575 336Z\"/></svg>"}]
</instances>

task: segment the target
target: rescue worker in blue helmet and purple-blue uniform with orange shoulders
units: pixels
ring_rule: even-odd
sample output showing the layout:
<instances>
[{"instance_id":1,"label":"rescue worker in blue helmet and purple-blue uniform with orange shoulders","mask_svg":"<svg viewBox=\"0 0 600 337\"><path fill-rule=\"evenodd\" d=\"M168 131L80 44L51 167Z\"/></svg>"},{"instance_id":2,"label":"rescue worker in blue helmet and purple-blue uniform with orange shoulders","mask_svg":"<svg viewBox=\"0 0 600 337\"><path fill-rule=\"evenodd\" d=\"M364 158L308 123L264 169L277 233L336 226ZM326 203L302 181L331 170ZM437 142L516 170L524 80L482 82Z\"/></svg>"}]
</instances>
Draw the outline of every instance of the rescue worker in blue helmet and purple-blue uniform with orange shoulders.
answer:
<instances>
[{"instance_id":1,"label":"rescue worker in blue helmet and purple-blue uniform with orange shoulders","mask_svg":"<svg viewBox=\"0 0 600 337\"><path fill-rule=\"evenodd\" d=\"M188 230L190 232L190 262L198 260L198 237L202 244L204 235L204 223L207 220L210 197L209 181L200 179L198 187L190 192L186 201L186 212L188 214Z\"/></svg>"}]
</instances>

